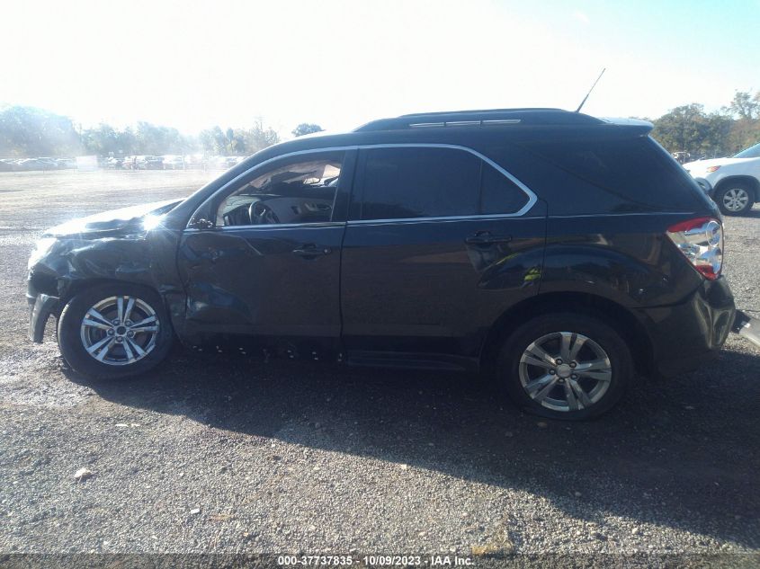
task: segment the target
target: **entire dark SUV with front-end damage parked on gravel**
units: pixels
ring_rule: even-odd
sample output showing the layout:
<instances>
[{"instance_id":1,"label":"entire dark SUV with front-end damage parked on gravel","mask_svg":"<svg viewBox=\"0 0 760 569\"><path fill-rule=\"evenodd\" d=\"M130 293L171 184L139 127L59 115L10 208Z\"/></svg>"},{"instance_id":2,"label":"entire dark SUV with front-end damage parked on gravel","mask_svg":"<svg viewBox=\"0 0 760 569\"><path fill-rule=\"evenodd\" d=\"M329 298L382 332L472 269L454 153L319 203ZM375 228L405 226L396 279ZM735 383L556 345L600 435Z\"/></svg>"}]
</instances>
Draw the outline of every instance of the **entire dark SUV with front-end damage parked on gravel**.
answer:
<instances>
[{"instance_id":1,"label":"entire dark SUV with front-end damage parked on gravel","mask_svg":"<svg viewBox=\"0 0 760 569\"><path fill-rule=\"evenodd\" d=\"M460 111L268 147L186 199L49 229L31 339L56 316L94 378L152 369L179 338L482 370L533 413L604 413L734 325L718 209L651 129Z\"/></svg>"}]
</instances>

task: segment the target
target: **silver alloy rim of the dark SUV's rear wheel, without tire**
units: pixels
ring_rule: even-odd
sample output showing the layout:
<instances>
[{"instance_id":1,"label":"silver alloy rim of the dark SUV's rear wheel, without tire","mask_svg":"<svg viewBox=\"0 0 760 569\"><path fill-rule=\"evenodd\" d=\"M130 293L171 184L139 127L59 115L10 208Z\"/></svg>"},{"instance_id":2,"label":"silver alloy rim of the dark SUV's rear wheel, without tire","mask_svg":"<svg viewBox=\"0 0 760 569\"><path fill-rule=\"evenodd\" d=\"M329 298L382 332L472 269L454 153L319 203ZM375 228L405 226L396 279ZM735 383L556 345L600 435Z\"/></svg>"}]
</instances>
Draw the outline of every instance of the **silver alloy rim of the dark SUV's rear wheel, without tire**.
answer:
<instances>
[{"instance_id":1,"label":"silver alloy rim of the dark SUV's rear wheel, without tire","mask_svg":"<svg viewBox=\"0 0 760 569\"><path fill-rule=\"evenodd\" d=\"M533 401L553 411L595 405L612 382L612 363L602 346L581 333L548 333L523 351L520 383Z\"/></svg>"}]
</instances>

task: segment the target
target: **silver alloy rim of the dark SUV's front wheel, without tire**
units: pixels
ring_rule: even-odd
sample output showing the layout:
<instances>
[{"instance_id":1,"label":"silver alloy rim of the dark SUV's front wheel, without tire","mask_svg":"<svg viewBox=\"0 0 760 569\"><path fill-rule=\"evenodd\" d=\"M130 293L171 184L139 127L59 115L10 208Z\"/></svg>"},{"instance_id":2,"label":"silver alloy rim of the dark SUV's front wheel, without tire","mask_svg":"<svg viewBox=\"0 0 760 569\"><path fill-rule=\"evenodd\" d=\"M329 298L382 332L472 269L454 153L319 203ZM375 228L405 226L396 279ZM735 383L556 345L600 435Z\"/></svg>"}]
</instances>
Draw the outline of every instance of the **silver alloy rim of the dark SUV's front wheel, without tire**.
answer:
<instances>
[{"instance_id":1,"label":"silver alloy rim of the dark SUV's front wheel, without tire","mask_svg":"<svg viewBox=\"0 0 760 569\"><path fill-rule=\"evenodd\" d=\"M94 360L125 366L145 358L156 347L160 323L145 300L103 298L85 313L80 337Z\"/></svg>"}]
</instances>

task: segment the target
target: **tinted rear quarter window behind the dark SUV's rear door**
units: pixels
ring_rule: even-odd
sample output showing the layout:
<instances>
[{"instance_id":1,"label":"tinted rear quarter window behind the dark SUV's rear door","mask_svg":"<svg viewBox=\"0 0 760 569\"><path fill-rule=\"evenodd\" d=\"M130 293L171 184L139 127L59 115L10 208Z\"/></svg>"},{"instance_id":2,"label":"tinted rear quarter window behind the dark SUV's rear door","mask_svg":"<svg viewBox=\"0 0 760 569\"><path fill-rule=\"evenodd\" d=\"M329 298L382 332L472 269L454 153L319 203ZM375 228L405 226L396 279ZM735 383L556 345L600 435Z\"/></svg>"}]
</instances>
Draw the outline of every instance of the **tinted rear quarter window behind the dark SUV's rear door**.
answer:
<instances>
[{"instance_id":1,"label":"tinted rear quarter window behind the dark SUV's rear door","mask_svg":"<svg viewBox=\"0 0 760 569\"><path fill-rule=\"evenodd\" d=\"M650 138L539 142L525 148L578 181L616 196L617 210L684 209L700 197L688 173Z\"/></svg>"}]
</instances>

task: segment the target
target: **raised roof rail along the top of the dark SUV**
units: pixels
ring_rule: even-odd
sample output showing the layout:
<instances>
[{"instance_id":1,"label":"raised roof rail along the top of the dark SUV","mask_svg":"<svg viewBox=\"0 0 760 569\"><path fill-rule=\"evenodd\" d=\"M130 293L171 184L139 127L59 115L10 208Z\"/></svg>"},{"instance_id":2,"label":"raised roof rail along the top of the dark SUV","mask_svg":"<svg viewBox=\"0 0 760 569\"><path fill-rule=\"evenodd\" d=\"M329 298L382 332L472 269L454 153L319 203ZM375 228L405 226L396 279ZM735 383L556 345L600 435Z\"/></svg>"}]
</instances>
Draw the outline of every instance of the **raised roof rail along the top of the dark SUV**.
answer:
<instances>
[{"instance_id":1,"label":"raised roof rail along the top of the dark SUV","mask_svg":"<svg viewBox=\"0 0 760 569\"><path fill-rule=\"evenodd\" d=\"M445 127L493 127L516 124L580 125L601 120L561 109L491 109L405 114L394 119L372 120L353 132L377 130L435 129Z\"/></svg>"}]
</instances>

